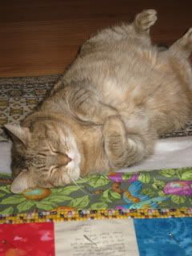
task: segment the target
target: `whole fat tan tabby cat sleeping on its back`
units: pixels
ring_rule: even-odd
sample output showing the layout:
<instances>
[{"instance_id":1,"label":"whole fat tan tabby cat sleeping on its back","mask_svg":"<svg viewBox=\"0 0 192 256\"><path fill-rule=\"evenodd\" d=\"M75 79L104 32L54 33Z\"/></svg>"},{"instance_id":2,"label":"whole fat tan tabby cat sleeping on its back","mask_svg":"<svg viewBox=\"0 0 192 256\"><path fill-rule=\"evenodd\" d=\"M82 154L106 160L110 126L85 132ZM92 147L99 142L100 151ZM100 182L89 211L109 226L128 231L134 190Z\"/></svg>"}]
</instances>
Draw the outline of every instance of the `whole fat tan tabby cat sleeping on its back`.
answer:
<instances>
[{"instance_id":1,"label":"whole fat tan tabby cat sleeping on its back","mask_svg":"<svg viewBox=\"0 0 192 256\"><path fill-rule=\"evenodd\" d=\"M192 29L169 50L150 42L155 10L84 43L50 96L13 138L11 191L75 182L153 154L159 135L191 118Z\"/></svg>"}]
</instances>

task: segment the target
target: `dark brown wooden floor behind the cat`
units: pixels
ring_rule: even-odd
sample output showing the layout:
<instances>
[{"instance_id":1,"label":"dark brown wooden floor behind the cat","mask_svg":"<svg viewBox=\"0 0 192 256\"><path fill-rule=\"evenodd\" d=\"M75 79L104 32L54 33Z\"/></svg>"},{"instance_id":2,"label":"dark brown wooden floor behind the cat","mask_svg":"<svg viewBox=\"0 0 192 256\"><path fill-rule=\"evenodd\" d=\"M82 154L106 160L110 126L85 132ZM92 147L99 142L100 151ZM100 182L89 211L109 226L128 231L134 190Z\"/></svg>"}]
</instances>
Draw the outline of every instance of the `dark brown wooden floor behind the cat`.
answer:
<instances>
[{"instance_id":1,"label":"dark brown wooden floor behind the cat","mask_svg":"<svg viewBox=\"0 0 192 256\"><path fill-rule=\"evenodd\" d=\"M154 42L192 26L191 0L0 0L0 77L58 74L96 30L158 10Z\"/></svg>"}]
</instances>

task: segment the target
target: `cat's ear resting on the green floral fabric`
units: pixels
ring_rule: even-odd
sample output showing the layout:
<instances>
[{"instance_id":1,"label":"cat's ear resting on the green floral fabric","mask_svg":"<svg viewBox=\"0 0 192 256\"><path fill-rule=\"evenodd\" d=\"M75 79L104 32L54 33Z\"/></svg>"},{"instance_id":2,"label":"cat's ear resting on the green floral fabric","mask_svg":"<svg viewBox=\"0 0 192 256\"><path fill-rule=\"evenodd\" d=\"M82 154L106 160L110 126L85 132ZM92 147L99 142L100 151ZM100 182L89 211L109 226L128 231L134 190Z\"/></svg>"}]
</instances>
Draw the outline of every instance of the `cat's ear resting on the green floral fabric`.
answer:
<instances>
[{"instance_id":1,"label":"cat's ear resting on the green floral fabric","mask_svg":"<svg viewBox=\"0 0 192 256\"><path fill-rule=\"evenodd\" d=\"M35 184L30 175L30 171L22 170L22 172L18 174L16 178L14 178L14 181L10 185L10 191L15 194L19 194L22 193L24 190L27 190L34 186Z\"/></svg>"}]
</instances>

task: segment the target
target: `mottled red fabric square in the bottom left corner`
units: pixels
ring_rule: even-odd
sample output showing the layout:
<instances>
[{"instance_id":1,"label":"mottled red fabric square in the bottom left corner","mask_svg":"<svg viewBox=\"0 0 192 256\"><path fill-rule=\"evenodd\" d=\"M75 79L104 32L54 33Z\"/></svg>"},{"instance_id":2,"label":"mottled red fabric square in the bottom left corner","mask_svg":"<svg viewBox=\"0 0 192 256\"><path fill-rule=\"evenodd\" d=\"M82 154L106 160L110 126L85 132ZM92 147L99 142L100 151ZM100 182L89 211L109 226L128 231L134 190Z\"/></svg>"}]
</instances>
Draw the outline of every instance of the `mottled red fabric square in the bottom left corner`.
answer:
<instances>
[{"instance_id":1,"label":"mottled red fabric square in the bottom left corner","mask_svg":"<svg viewBox=\"0 0 192 256\"><path fill-rule=\"evenodd\" d=\"M54 223L0 224L0 256L54 256Z\"/></svg>"}]
</instances>

